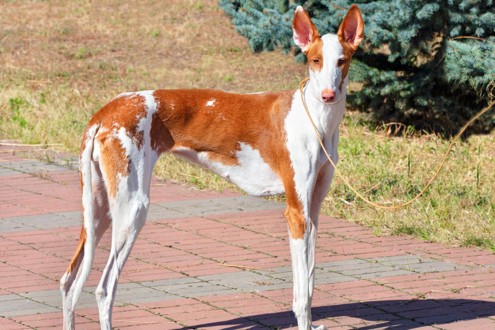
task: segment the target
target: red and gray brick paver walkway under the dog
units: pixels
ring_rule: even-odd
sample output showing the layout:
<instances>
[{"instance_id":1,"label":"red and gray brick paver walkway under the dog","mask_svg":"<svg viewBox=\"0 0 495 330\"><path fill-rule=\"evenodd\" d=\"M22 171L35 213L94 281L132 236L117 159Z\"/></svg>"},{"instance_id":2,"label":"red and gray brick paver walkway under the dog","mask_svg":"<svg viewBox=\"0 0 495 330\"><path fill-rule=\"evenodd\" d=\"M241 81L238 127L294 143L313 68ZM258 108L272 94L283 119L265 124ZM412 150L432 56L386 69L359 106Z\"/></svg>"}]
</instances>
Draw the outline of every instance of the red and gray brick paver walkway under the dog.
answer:
<instances>
[{"instance_id":1,"label":"red and gray brick paver walkway under the dog","mask_svg":"<svg viewBox=\"0 0 495 330\"><path fill-rule=\"evenodd\" d=\"M59 329L58 280L81 226L77 161L47 164L20 149L0 146L0 329ZM283 205L157 178L151 203L119 281L115 329L296 327ZM99 329L94 290L109 244L110 231L77 306L78 329ZM493 252L375 236L322 215L316 262L317 325L495 329Z\"/></svg>"}]
</instances>

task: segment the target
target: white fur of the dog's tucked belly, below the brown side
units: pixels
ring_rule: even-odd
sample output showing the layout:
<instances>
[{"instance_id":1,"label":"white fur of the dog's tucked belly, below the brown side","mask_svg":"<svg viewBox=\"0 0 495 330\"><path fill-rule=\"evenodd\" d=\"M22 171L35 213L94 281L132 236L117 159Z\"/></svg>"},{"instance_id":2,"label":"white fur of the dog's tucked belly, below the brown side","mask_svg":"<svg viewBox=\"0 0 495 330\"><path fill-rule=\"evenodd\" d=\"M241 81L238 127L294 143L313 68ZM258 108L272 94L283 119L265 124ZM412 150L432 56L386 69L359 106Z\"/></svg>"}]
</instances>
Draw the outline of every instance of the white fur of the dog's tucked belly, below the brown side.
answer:
<instances>
[{"instance_id":1,"label":"white fur of the dog's tucked belly, below the brown side","mask_svg":"<svg viewBox=\"0 0 495 330\"><path fill-rule=\"evenodd\" d=\"M240 143L241 150L235 156L238 165L224 165L216 162L209 153L174 147L170 153L201 165L235 184L252 196L274 196L285 193L280 177L261 158L259 151L246 143Z\"/></svg>"}]
</instances>

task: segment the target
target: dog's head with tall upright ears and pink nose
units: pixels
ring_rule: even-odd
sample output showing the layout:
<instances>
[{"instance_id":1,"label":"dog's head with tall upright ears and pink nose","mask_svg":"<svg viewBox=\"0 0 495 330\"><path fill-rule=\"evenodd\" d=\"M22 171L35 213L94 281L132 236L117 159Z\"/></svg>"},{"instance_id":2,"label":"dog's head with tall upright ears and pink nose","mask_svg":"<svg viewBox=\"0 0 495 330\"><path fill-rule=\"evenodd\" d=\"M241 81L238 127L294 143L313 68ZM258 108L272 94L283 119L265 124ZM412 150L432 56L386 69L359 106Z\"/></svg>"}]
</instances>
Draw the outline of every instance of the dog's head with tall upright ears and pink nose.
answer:
<instances>
[{"instance_id":1,"label":"dog's head with tall upright ears and pink nose","mask_svg":"<svg viewBox=\"0 0 495 330\"><path fill-rule=\"evenodd\" d=\"M364 23L357 5L347 11L337 35L320 37L306 11L297 6L292 22L294 41L309 62L309 88L323 103L335 103L346 94L347 71L363 40Z\"/></svg>"}]
</instances>

